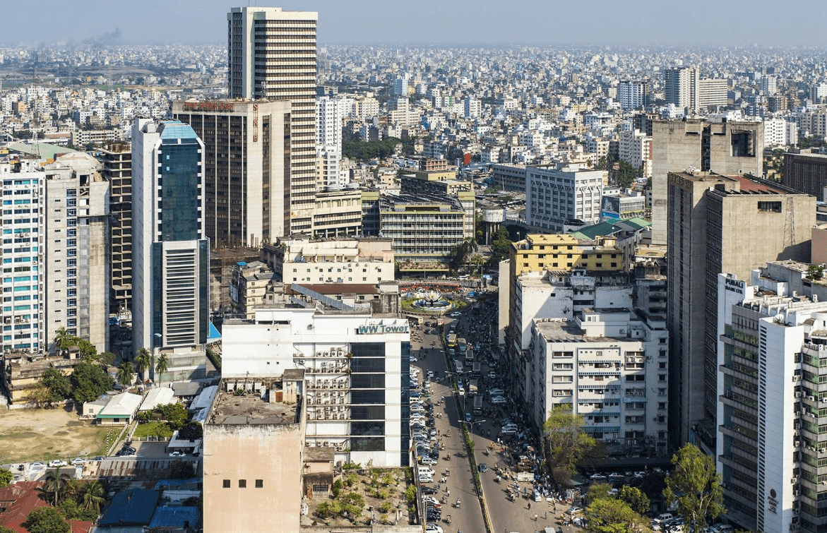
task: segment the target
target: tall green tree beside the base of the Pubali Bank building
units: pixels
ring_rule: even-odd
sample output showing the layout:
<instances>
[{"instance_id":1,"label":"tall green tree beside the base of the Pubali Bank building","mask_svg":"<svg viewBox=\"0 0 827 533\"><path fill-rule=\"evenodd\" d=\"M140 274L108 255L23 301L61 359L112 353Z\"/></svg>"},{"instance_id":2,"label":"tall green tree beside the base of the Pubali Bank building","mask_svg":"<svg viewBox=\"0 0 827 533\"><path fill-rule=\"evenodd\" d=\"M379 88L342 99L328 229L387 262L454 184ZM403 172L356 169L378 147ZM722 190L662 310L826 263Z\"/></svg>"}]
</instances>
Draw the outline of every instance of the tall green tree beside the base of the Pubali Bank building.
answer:
<instances>
[{"instance_id":1,"label":"tall green tree beside the base of the Pubali Bank building","mask_svg":"<svg viewBox=\"0 0 827 533\"><path fill-rule=\"evenodd\" d=\"M675 471L667 478L663 497L667 505L677 502L677 514L695 531L706 527L706 517L717 518L726 511L721 477L712 458L697 446L686 444L672 455Z\"/></svg>"}]
</instances>

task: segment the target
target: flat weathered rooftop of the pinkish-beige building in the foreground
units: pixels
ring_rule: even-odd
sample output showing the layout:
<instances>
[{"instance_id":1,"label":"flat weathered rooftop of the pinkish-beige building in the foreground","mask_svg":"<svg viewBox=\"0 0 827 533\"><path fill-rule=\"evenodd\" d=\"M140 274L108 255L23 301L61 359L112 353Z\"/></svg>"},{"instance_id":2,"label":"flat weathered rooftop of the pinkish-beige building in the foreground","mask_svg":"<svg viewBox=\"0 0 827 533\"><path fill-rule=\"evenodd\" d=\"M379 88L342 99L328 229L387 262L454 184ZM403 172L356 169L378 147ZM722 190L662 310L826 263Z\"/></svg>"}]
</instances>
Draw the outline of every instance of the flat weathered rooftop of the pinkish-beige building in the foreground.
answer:
<instances>
[{"instance_id":1,"label":"flat weathered rooftop of the pinkish-beige building in the foreground","mask_svg":"<svg viewBox=\"0 0 827 533\"><path fill-rule=\"evenodd\" d=\"M300 369L299 372L301 372ZM290 376L287 374L288 371L285 370L284 378L293 377L293 374ZM293 424L296 419L297 404L270 401L272 389L275 388L275 391L278 391L282 383L284 382L276 379L222 380L207 423L211 425ZM233 390L236 386L244 392L239 393L238 389Z\"/></svg>"}]
</instances>

